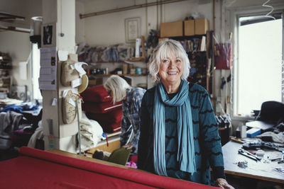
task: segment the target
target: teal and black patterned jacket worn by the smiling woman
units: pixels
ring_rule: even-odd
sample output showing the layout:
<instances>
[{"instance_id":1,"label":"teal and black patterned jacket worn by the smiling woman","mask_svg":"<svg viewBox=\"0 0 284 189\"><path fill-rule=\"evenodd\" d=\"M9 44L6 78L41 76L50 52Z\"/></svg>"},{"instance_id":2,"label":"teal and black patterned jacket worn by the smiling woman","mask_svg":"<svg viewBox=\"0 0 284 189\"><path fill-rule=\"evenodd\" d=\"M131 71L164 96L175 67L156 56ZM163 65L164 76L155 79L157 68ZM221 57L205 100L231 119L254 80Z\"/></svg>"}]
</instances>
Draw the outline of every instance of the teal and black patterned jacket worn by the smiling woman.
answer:
<instances>
[{"instance_id":1,"label":"teal and black patterned jacket worn by the smiling woman","mask_svg":"<svg viewBox=\"0 0 284 189\"><path fill-rule=\"evenodd\" d=\"M189 97L194 130L195 164L197 172L180 171L176 159L177 108L165 105L165 161L168 176L211 185L210 167L214 180L225 178L222 146L212 104L207 91L198 84L190 84ZM138 168L155 173L153 166L153 101L155 87L148 89L141 103L141 133L138 143Z\"/></svg>"}]
</instances>

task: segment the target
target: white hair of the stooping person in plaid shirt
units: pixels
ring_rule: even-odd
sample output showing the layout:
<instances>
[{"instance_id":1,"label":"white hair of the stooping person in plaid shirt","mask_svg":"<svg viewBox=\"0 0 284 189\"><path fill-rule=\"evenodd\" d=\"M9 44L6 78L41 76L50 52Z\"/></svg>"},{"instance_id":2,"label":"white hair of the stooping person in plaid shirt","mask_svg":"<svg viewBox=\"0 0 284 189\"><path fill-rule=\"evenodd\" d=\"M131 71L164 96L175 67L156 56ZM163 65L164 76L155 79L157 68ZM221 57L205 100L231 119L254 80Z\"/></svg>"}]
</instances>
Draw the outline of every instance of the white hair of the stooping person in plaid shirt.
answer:
<instances>
[{"instance_id":1,"label":"white hair of the stooping person in plaid shirt","mask_svg":"<svg viewBox=\"0 0 284 189\"><path fill-rule=\"evenodd\" d=\"M113 103L117 103L124 100L126 97L126 88L131 88L131 86L120 76L112 75L104 83L104 88L107 91L112 91L112 101Z\"/></svg>"}]
</instances>

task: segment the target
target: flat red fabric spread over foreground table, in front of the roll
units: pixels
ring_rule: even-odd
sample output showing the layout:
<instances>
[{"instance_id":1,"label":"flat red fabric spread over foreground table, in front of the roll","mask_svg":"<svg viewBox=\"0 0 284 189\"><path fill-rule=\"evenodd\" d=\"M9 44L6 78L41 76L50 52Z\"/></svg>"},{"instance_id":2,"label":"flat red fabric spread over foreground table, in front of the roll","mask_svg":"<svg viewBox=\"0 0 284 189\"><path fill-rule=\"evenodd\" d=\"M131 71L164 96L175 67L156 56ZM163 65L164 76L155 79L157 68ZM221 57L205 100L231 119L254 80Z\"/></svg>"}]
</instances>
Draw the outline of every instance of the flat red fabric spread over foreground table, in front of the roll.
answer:
<instances>
[{"instance_id":1,"label":"flat red fabric spread over foreground table, in front of the roll","mask_svg":"<svg viewBox=\"0 0 284 189\"><path fill-rule=\"evenodd\" d=\"M0 188L5 189L153 188L31 156L18 156L1 161L0 177Z\"/></svg>"}]
</instances>

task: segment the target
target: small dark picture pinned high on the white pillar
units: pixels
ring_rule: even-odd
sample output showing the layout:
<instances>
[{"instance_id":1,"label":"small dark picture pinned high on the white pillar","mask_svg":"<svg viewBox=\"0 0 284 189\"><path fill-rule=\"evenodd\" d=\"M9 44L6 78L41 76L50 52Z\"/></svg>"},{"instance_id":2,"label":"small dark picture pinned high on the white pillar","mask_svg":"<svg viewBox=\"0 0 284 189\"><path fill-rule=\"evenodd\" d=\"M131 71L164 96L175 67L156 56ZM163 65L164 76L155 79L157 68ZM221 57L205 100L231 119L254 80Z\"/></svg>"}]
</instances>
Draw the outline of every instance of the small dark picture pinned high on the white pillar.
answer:
<instances>
[{"instance_id":1,"label":"small dark picture pinned high on the white pillar","mask_svg":"<svg viewBox=\"0 0 284 189\"><path fill-rule=\"evenodd\" d=\"M42 47L56 47L56 23L45 23L41 29Z\"/></svg>"}]
</instances>

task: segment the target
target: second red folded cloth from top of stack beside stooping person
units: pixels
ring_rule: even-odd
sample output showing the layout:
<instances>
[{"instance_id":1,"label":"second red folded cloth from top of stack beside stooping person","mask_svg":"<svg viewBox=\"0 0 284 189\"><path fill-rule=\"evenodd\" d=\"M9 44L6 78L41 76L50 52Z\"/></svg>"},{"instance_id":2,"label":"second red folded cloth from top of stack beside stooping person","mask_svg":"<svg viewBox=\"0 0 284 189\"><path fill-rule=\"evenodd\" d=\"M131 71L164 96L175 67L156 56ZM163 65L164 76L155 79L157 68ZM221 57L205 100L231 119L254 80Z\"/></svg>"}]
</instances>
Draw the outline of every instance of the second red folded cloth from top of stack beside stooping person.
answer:
<instances>
[{"instance_id":1,"label":"second red folded cloth from top of stack beside stooping person","mask_svg":"<svg viewBox=\"0 0 284 189\"><path fill-rule=\"evenodd\" d=\"M116 109L121 109L122 102L112 103L112 102L105 102L105 103L94 103L85 101L82 103L82 110L87 113L109 113Z\"/></svg>"}]
</instances>

